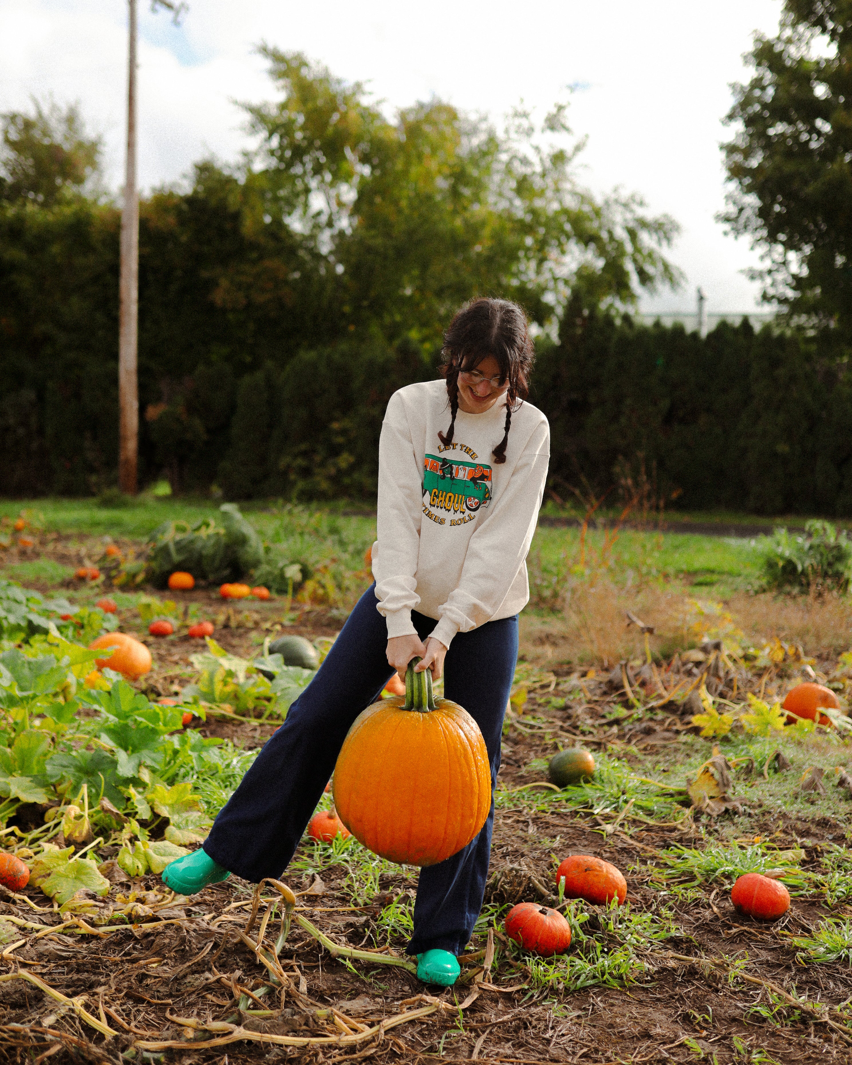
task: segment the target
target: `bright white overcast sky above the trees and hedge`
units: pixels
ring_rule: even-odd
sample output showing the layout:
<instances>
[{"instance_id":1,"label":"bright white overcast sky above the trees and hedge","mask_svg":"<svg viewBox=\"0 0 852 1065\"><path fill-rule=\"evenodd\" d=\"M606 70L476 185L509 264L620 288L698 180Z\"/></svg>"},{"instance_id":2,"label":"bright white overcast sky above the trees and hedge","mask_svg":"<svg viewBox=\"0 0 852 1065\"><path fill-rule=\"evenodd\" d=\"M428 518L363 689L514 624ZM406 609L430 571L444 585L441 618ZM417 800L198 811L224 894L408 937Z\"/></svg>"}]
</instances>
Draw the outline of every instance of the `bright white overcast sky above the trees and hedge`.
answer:
<instances>
[{"instance_id":1,"label":"bright white overcast sky above the trees and hedge","mask_svg":"<svg viewBox=\"0 0 852 1065\"><path fill-rule=\"evenodd\" d=\"M253 47L300 49L370 84L387 108L432 96L495 119L523 100L543 113L574 85L570 120L588 135L583 179L640 193L682 226L671 257L687 275L645 310L749 310L757 263L714 216L724 206L719 144L732 81L755 31L775 33L781 0L191 0L183 23L140 0L140 179L174 182L194 160L247 145L234 100L269 98ZM127 0L0 0L0 111L52 94L79 101L106 142L109 182L124 158Z\"/></svg>"}]
</instances>

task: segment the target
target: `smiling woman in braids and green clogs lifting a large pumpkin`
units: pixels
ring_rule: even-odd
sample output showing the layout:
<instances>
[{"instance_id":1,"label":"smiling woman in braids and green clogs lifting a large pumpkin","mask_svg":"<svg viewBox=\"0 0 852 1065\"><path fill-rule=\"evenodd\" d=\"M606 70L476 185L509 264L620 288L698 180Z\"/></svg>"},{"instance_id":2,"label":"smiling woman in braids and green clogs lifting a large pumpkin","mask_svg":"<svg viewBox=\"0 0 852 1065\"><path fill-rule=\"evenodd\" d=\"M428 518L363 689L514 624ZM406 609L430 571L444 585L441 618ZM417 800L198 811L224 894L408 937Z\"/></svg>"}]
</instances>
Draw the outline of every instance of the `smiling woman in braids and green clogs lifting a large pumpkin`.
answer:
<instances>
[{"instance_id":1,"label":"smiling woman in braids and green clogs lifting a large pumpkin","mask_svg":"<svg viewBox=\"0 0 852 1065\"><path fill-rule=\"evenodd\" d=\"M499 768L503 716L529 599L526 555L547 473L544 415L525 402L532 342L523 311L476 299L444 339L444 380L391 396L379 443L375 584L361 596L314 679L290 707L203 845L169 865L191 895L229 872L279 878L301 839L355 718L393 670L445 673L444 694L478 723ZM448 408L448 410L447 410ZM447 424L447 414L449 422ZM492 801L479 835L421 870L408 952L417 976L449 986L479 915Z\"/></svg>"}]
</instances>

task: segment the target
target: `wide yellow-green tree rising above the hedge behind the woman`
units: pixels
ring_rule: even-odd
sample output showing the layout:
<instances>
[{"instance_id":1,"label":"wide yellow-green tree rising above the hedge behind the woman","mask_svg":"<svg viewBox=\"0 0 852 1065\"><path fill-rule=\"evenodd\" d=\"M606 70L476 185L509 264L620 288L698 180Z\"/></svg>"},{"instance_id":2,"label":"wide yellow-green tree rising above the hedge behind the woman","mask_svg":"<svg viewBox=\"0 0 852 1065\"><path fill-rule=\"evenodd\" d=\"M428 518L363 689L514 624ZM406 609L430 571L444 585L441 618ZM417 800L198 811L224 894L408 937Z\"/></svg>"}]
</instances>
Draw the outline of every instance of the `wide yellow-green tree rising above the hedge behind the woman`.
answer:
<instances>
[{"instance_id":1,"label":"wide yellow-green tree rising above the hedge behind the woman","mask_svg":"<svg viewBox=\"0 0 852 1065\"><path fill-rule=\"evenodd\" d=\"M342 275L346 332L378 329L440 346L453 311L477 294L511 296L544 325L581 288L596 306L674 283L662 255L677 231L636 196L596 198L573 163L564 106L537 126L490 122L431 100L388 120L301 53L264 46L282 98L246 110L260 136L247 182Z\"/></svg>"}]
</instances>

